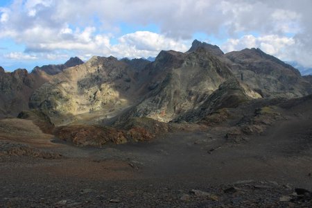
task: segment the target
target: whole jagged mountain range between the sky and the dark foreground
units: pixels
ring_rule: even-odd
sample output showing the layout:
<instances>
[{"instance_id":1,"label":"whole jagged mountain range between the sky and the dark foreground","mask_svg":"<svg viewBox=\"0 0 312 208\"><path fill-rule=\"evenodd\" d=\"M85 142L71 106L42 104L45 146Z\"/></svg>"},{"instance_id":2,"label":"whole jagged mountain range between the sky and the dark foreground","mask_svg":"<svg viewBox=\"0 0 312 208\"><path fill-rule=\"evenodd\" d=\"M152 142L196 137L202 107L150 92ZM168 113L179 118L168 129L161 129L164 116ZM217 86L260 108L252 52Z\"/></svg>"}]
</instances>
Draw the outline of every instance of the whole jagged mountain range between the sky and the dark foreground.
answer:
<instances>
[{"instance_id":1,"label":"whole jagged mountain range between the sky and the dark foreground","mask_svg":"<svg viewBox=\"0 0 312 208\"><path fill-rule=\"evenodd\" d=\"M223 53L198 40L185 53L161 51L153 62L94 56L35 67L31 73L0 68L0 86L2 118L35 112L55 127L128 130L145 121L198 123L252 100L312 93L311 76L301 76L261 49Z\"/></svg>"}]
</instances>

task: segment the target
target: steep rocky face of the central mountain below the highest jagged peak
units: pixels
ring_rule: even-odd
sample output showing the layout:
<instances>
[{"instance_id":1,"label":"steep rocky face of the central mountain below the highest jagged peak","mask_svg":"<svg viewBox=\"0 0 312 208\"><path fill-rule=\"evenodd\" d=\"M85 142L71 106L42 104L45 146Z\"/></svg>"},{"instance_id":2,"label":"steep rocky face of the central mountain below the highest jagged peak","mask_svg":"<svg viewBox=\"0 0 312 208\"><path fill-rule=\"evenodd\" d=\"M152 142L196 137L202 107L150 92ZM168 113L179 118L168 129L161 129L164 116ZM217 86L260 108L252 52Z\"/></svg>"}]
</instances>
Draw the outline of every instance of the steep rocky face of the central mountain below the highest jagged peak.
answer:
<instances>
[{"instance_id":1,"label":"steep rocky face of the central mountain below the highest jagged peak","mask_svg":"<svg viewBox=\"0 0 312 208\"><path fill-rule=\"evenodd\" d=\"M165 55L163 59L172 59L171 55L172 53ZM181 61L167 71L166 78L144 101L125 117L121 117L119 122L125 121L127 117L172 121L186 112L198 109L225 81L231 79L234 83L237 82L231 69L202 47L184 54ZM261 97L248 86L245 86L245 89L246 96L247 92L250 92L249 98Z\"/></svg>"}]
</instances>

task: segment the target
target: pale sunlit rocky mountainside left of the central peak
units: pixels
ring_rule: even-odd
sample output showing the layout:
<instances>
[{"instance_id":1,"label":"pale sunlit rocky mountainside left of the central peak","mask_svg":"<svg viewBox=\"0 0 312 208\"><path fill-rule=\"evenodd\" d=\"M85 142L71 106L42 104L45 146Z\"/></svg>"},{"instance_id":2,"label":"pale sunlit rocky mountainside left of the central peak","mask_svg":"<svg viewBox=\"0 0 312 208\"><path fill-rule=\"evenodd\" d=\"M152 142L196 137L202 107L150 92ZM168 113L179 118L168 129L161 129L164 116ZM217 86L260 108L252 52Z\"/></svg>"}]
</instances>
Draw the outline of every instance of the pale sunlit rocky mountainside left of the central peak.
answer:
<instances>
[{"instance_id":1,"label":"pale sunlit rocky mountainside left of the central peak","mask_svg":"<svg viewBox=\"0 0 312 208\"><path fill-rule=\"evenodd\" d=\"M71 122L77 115L85 121L116 116L137 102L133 68L114 57L94 56L85 64L65 69L37 89L30 106L48 114L57 124Z\"/></svg>"}]
</instances>

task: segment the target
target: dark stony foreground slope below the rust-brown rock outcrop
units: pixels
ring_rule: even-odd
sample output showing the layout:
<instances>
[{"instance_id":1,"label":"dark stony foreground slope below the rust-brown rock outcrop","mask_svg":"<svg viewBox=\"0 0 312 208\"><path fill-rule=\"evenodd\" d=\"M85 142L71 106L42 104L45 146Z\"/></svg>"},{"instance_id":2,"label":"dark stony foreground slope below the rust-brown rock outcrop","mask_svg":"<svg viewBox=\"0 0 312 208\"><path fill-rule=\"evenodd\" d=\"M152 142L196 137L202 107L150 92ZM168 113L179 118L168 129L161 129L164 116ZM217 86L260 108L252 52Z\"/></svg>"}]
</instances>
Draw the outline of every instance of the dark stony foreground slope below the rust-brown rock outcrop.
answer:
<instances>
[{"instance_id":1,"label":"dark stony foreground slope below the rust-brown rock outcrop","mask_svg":"<svg viewBox=\"0 0 312 208\"><path fill-rule=\"evenodd\" d=\"M3 119L0 207L312 207L310 108L245 105L243 119L102 148Z\"/></svg>"}]
</instances>

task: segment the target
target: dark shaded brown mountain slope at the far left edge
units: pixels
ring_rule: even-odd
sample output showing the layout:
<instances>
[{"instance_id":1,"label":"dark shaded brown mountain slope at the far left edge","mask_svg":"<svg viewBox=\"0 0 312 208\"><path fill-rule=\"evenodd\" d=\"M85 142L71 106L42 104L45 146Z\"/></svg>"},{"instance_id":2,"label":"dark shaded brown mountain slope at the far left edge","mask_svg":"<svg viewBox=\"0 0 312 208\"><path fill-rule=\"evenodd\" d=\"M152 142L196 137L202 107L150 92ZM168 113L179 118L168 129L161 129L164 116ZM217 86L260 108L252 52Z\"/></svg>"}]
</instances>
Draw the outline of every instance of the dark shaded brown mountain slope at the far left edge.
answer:
<instances>
[{"instance_id":1,"label":"dark shaded brown mountain slope at the far left edge","mask_svg":"<svg viewBox=\"0 0 312 208\"><path fill-rule=\"evenodd\" d=\"M44 72L28 73L26 69L5 72L0 67L0 117L17 116L28 110L29 97L49 80Z\"/></svg>"}]
</instances>

